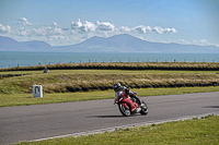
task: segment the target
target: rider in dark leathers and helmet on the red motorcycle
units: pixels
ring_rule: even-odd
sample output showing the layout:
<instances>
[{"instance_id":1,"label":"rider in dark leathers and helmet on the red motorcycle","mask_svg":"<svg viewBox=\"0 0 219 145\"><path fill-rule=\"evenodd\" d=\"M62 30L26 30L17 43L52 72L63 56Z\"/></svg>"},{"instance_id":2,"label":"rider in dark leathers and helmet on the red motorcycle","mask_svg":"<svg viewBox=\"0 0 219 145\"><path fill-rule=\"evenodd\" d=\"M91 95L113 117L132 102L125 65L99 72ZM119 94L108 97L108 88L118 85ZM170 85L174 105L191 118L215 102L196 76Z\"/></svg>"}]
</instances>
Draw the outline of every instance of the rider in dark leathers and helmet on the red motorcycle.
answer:
<instances>
[{"instance_id":1,"label":"rider in dark leathers and helmet on the red motorcycle","mask_svg":"<svg viewBox=\"0 0 219 145\"><path fill-rule=\"evenodd\" d=\"M130 96L130 98L135 98L137 99L137 101L139 102L139 106L141 106L142 101L136 96L136 94L134 94L130 89L128 89L127 87L125 86L120 86L120 83L116 83L113 85L113 89L115 90L115 93L118 93L118 92L126 92L127 95Z\"/></svg>"}]
</instances>

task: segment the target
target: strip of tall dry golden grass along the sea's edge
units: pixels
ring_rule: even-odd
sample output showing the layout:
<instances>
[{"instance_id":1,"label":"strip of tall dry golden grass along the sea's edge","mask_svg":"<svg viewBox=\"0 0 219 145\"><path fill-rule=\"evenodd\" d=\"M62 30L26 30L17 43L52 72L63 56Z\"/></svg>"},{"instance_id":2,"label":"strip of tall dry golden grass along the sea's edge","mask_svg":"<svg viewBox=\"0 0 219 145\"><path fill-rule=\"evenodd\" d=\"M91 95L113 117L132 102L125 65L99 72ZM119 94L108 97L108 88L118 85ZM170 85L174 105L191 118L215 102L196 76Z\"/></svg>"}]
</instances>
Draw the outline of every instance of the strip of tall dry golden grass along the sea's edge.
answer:
<instances>
[{"instance_id":1,"label":"strip of tall dry golden grass along the sea's edge","mask_svg":"<svg viewBox=\"0 0 219 145\"><path fill-rule=\"evenodd\" d=\"M61 63L34 67L19 67L0 69L0 71L33 71L67 69L101 69L101 70L193 70L193 71L218 71L218 62L106 62L106 63Z\"/></svg>"}]
</instances>

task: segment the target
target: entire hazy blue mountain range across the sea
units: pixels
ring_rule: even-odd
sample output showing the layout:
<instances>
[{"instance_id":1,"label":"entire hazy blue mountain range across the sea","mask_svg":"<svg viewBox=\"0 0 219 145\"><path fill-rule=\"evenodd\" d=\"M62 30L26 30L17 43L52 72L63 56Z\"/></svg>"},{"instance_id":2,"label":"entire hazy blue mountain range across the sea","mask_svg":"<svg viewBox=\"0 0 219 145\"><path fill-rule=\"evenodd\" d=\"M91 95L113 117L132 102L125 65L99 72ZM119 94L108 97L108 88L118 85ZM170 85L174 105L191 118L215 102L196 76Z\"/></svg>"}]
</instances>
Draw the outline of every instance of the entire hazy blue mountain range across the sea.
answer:
<instances>
[{"instance_id":1,"label":"entire hazy blue mountain range across the sea","mask_svg":"<svg viewBox=\"0 0 219 145\"><path fill-rule=\"evenodd\" d=\"M159 52L159 53L219 53L219 47L151 43L128 34L112 37L92 37L70 46L51 47L45 41L19 43L0 36L0 51L57 51L57 52Z\"/></svg>"}]
</instances>

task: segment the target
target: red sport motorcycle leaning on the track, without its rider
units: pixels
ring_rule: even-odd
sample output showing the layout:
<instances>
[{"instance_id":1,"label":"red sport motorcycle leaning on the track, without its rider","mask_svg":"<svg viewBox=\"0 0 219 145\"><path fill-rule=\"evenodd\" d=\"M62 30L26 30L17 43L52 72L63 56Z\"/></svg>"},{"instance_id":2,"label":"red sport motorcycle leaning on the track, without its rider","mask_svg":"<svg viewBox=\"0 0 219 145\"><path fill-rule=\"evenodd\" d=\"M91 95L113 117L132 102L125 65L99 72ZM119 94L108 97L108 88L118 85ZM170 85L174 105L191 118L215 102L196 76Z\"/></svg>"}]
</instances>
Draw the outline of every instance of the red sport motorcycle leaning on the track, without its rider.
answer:
<instances>
[{"instance_id":1,"label":"red sport motorcycle leaning on the track, without its rider","mask_svg":"<svg viewBox=\"0 0 219 145\"><path fill-rule=\"evenodd\" d=\"M137 95L136 92L134 94ZM122 90L116 93L114 104L118 105L120 113L125 117L129 117L130 114L138 112L140 112L142 116L148 114L148 106L146 105L146 102L142 101L139 106L138 101L139 100L130 98L130 96L127 95L126 92Z\"/></svg>"}]
</instances>

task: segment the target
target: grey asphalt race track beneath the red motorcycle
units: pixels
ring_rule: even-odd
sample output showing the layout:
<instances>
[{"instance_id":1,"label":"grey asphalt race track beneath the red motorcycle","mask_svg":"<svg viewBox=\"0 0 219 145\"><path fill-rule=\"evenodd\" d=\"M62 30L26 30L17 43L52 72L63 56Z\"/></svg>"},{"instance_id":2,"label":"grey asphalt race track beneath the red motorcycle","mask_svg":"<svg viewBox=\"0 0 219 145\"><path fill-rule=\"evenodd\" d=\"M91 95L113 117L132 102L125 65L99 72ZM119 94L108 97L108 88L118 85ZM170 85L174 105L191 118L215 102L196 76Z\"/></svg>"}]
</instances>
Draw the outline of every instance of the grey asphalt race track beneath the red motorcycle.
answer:
<instances>
[{"instance_id":1,"label":"grey asphalt race track beneath the red motorcycle","mask_svg":"<svg viewBox=\"0 0 219 145\"><path fill-rule=\"evenodd\" d=\"M126 124L219 113L219 92L141 97L147 116L123 117L114 99L0 108L0 144Z\"/></svg>"}]
</instances>

